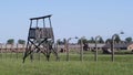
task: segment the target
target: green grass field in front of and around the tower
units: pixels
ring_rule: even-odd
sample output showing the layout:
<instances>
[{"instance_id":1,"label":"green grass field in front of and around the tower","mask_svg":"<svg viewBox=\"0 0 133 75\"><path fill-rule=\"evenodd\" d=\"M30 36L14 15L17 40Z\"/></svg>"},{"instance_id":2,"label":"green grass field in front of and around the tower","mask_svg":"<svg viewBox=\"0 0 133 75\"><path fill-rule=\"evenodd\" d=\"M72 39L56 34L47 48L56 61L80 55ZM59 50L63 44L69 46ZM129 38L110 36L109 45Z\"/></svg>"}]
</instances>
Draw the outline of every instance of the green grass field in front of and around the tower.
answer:
<instances>
[{"instance_id":1,"label":"green grass field in front of and around the tower","mask_svg":"<svg viewBox=\"0 0 133 75\"><path fill-rule=\"evenodd\" d=\"M133 55L115 55L115 62L111 62L111 55L99 55L99 61L94 62L93 54L84 54L83 62L78 54L70 54L70 61L65 61L65 55L60 54L60 61L54 57L50 62L38 54L31 63L28 58L22 63L22 54L19 58L16 54L0 55L0 75L132 75Z\"/></svg>"}]
</instances>

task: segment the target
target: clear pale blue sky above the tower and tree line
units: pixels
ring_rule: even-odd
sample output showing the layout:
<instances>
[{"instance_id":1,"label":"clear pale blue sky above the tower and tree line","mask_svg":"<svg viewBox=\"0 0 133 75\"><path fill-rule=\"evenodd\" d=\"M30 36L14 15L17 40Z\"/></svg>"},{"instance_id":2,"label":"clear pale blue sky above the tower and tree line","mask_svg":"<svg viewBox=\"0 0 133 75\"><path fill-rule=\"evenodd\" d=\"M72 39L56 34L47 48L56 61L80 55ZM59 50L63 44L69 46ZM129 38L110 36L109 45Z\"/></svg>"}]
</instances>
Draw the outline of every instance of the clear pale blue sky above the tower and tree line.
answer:
<instances>
[{"instance_id":1,"label":"clear pale blue sky above the tower and tree line","mask_svg":"<svg viewBox=\"0 0 133 75\"><path fill-rule=\"evenodd\" d=\"M1 0L0 42L28 38L30 18L52 14L55 40L133 38L133 0Z\"/></svg>"}]
</instances>

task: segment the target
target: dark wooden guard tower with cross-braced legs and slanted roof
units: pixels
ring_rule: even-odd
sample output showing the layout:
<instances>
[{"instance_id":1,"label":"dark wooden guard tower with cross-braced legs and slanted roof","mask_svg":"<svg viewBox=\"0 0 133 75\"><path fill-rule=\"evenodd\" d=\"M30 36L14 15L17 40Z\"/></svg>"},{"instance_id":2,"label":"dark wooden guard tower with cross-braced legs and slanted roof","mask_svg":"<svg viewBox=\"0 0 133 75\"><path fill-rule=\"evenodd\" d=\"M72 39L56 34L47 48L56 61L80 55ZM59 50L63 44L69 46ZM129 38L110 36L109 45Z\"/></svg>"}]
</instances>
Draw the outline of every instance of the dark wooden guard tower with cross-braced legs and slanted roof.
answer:
<instances>
[{"instance_id":1,"label":"dark wooden guard tower with cross-braced legs and slanted roof","mask_svg":"<svg viewBox=\"0 0 133 75\"><path fill-rule=\"evenodd\" d=\"M32 61L32 54L43 53L47 57L47 61L50 58L51 52L54 53L57 60L59 60L57 49L54 47L54 34L51 24L51 15L31 18L30 19L30 29L28 34L27 47L23 56L23 63L25 58L30 55ZM45 25L45 20L49 21L49 28ZM40 28L39 21L42 21L42 25ZM33 22L35 22L35 26L33 26Z\"/></svg>"}]
</instances>

